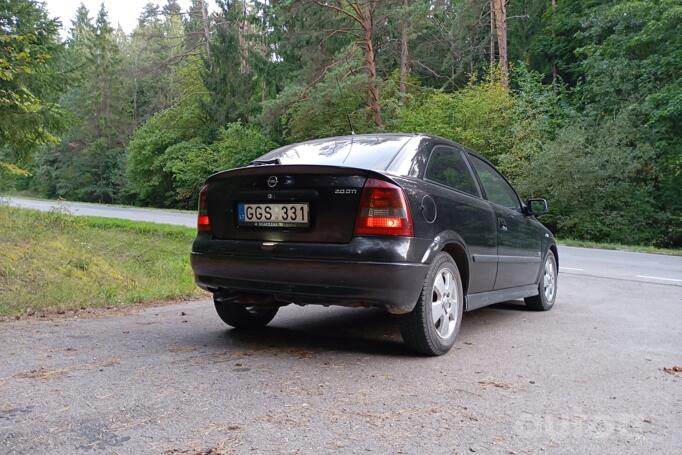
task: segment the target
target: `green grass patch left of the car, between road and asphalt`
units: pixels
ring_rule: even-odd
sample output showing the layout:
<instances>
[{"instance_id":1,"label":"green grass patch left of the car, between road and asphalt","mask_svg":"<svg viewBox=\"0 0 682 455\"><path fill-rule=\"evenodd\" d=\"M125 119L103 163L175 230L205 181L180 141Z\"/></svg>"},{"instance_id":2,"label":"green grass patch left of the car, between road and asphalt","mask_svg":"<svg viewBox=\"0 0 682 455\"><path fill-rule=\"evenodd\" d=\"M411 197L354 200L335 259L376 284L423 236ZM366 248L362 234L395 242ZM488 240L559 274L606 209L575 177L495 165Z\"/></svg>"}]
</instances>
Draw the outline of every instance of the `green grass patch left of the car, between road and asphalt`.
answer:
<instances>
[{"instance_id":1,"label":"green grass patch left of the car, between road and asphalt","mask_svg":"<svg viewBox=\"0 0 682 455\"><path fill-rule=\"evenodd\" d=\"M0 316L199 296L194 230L0 205Z\"/></svg>"}]
</instances>

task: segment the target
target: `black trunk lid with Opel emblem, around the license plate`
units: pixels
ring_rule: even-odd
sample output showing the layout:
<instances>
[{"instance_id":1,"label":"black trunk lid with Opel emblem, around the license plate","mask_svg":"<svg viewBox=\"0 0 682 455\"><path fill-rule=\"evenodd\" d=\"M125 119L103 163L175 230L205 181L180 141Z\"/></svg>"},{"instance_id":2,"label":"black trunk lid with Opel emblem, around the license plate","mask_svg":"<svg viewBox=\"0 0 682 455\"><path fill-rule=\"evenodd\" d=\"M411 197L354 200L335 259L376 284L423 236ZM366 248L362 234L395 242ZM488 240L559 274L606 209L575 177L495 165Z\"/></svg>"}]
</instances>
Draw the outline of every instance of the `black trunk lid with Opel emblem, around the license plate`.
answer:
<instances>
[{"instance_id":1,"label":"black trunk lid with Opel emblem, around the license plate","mask_svg":"<svg viewBox=\"0 0 682 455\"><path fill-rule=\"evenodd\" d=\"M320 165L261 165L214 174L207 180L213 236L230 240L348 243L353 237L362 187L370 177L390 181L374 171ZM280 210L279 204L299 210L303 210L301 205L307 206L308 224L243 224L245 207Z\"/></svg>"}]
</instances>

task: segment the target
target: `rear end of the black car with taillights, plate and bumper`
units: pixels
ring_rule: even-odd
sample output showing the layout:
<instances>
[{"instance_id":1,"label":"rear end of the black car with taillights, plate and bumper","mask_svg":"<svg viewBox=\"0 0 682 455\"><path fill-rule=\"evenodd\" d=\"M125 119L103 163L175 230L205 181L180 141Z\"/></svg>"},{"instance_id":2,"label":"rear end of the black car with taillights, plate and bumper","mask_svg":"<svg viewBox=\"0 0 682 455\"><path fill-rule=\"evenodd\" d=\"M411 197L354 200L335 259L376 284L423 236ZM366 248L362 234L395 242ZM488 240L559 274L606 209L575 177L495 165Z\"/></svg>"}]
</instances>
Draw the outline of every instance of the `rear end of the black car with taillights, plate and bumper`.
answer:
<instances>
[{"instance_id":1,"label":"rear end of the black car with taillights, plate and bumper","mask_svg":"<svg viewBox=\"0 0 682 455\"><path fill-rule=\"evenodd\" d=\"M344 165L353 150L363 151L357 143L344 150L347 145L333 149L347 154L345 162L324 157L323 164L308 164L314 161L308 156L210 177L192 248L197 284L211 292L271 295L279 304L409 312L427 272L420 259L428 245L414 235L416 208L388 174ZM379 164L398 152L400 144L393 145ZM318 162L321 152L329 153L314 150Z\"/></svg>"}]
</instances>

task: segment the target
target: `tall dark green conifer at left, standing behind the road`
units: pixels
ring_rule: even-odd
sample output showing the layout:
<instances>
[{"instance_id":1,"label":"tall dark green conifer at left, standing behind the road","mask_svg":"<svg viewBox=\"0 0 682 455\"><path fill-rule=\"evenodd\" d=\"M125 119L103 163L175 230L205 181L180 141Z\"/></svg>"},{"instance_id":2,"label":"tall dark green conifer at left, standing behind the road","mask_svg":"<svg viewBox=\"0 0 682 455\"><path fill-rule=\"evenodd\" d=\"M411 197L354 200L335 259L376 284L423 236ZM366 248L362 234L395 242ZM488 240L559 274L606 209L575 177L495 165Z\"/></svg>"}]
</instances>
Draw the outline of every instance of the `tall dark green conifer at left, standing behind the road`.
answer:
<instances>
[{"instance_id":1,"label":"tall dark green conifer at left, standing behind the road","mask_svg":"<svg viewBox=\"0 0 682 455\"><path fill-rule=\"evenodd\" d=\"M67 42L75 86L61 101L73 113L72 126L62 144L43 152L35 180L57 196L112 202L124 184L131 119L119 43L104 6L94 24L81 6Z\"/></svg>"}]
</instances>

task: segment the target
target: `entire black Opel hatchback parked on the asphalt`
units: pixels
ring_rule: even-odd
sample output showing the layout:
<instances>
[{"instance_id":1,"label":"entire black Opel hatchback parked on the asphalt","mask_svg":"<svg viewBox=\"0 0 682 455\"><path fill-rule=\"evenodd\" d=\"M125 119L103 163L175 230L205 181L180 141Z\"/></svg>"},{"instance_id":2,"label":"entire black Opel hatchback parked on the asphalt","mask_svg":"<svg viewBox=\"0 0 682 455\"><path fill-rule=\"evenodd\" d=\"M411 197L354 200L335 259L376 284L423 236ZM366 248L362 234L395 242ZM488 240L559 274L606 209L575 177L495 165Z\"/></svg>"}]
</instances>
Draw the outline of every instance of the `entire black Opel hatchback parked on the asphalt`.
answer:
<instances>
[{"instance_id":1,"label":"entire black Opel hatchback parked on the asphalt","mask_svg":"<svg viewBox=\"0 0 682 455\"><path fill-rule=\"evenodd\" d=\"M381 307L402 315L406 344L440 355L464 311L552 308L557 247L535 219L546 210L446 139L318 139L207 179L192 268L233 327L265 326L290 303Z\"/></svg>"}]
</instances>

